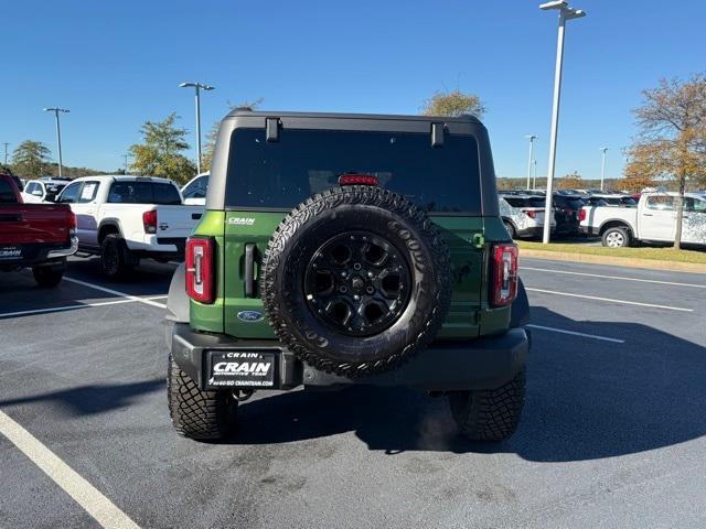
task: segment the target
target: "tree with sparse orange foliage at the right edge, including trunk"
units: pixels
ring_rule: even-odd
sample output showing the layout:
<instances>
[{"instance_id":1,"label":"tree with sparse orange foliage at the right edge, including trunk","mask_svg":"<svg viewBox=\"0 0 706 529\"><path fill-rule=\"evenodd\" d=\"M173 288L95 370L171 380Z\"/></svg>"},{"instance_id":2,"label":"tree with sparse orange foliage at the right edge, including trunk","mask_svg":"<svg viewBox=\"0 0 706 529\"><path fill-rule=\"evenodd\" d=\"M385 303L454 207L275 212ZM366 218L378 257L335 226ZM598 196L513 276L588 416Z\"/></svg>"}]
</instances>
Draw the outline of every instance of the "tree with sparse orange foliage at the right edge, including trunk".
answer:
<instances>
[{"instance_id":1,"label":"tree with sparse orange foliage at the right edge, including trunk","mask_svg":"<svg viewBox=\"0 0 706 529\"><path fill-rule=\"evenodd\" d=\"M656 88L642 94L643 105L633 110L640 132L628 150L625 180L677 181L674 248L678 249L686 181L706 183L706 76L661 79Z\"/></svg>"}]
</instances>

